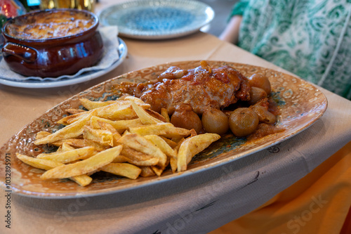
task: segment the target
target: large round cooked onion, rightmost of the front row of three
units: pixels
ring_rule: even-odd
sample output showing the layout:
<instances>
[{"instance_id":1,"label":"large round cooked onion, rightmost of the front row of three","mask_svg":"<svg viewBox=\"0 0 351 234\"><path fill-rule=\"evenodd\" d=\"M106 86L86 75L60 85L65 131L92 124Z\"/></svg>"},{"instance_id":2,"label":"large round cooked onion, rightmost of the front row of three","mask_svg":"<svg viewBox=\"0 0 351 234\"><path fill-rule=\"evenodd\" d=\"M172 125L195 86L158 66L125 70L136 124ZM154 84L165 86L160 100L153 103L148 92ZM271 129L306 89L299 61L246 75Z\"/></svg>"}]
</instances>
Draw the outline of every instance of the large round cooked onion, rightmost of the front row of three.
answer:
<instances>
[{"instance_id":1,"label":"large round cooked onion, rightmost of the front row of three","mask_svg":"<svg viewBox=\"0 0 351 234\"><path fill-rule=\"evenodd\" d=\"M249 108L237 108L229 117L229 126L235 136L248 136L257 129L258 115Z\"/></svg>"}]
</instances>

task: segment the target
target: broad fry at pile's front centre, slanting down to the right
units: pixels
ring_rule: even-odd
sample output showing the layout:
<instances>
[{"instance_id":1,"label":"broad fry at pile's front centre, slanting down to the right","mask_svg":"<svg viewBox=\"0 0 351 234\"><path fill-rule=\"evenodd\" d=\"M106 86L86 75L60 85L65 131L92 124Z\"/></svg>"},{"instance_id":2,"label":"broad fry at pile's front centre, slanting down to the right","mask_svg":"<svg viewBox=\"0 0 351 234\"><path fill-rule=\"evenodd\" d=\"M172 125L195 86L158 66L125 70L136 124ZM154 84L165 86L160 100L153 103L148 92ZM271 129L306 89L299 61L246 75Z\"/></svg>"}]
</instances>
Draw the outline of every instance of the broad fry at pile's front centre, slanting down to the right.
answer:
<instances>
[{"instance_id":1,"label":"broad fry at pile's front centre, slanting down to the right","mask_svg":"<svg viewBox=\"0 0 351 234\"><path fill-rule=\"evenodd\" d=\"M158 165L160 167L164 167L166 165L167 156L162 152L159 148L153 145L150 141L143 138L138 134L124 134L121 138L119 138L118 143L127 145L134 150L138 150L140 152L144 152L147 155L153 155L159 159Z\"/></svg>"}]
</instances>

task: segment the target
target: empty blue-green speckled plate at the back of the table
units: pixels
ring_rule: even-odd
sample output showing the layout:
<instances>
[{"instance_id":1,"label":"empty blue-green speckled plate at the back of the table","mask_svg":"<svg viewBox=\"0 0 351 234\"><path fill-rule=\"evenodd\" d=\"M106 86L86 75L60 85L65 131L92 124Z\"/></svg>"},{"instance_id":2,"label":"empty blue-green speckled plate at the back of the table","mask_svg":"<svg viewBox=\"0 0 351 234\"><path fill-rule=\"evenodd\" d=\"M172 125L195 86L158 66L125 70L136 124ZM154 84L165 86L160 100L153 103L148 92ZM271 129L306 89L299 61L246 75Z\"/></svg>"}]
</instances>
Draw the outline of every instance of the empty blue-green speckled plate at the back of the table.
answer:
<instances>
[{"instance_id":1,"label":"empty blue-green speckled plate at the back of the table","mask_svg":"<svg viewBox=\"0 0 351 234\"><path fill-rule=\"evenodd\" d=\"M168 39L197 32L213 20L213 9L199 1L128 1L100 13L102 25L117 25L119 34L136 39Z\"/></svg>"}]
</instances>

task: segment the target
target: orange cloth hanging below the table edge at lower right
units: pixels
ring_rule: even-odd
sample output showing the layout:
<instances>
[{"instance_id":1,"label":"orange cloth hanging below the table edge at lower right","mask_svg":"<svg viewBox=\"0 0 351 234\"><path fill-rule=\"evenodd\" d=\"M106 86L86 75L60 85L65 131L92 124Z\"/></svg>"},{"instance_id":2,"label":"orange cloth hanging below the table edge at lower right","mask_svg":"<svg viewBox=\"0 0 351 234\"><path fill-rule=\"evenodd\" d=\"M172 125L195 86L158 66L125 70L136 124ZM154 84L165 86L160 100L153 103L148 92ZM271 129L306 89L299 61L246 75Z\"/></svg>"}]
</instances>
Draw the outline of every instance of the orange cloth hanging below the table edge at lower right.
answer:
<instances>
[{"instance_id":1,"label":"orange cloth hanging below the table edge at lower right","mask_svg":"<svg viewBox=\"0 0 351 234\"><path fill-rule=\"evenodd\" d=\"M351 142L255 211L210 234L350 234Z\"/></svg>"}]
</instances>

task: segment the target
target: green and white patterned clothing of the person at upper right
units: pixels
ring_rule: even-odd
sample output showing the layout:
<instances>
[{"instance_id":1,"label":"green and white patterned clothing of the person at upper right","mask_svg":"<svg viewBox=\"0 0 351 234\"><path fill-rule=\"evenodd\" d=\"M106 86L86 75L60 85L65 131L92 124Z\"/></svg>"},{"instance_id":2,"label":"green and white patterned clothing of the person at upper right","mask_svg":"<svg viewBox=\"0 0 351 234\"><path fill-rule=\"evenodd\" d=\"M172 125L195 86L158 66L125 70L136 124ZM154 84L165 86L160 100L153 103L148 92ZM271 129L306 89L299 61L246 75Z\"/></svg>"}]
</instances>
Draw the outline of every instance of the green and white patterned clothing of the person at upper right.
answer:
<instances>
[{"instance_id":1,"label":"green and white patterned clothing of the person at upper right","mask_svg":"<svg viewBox=\"0 0 351 234\"><path fill-rule=\"evenodd\" d=\"M351 100L351 0L245 0L246 51Z\"/></svg>"}]
</instances>

